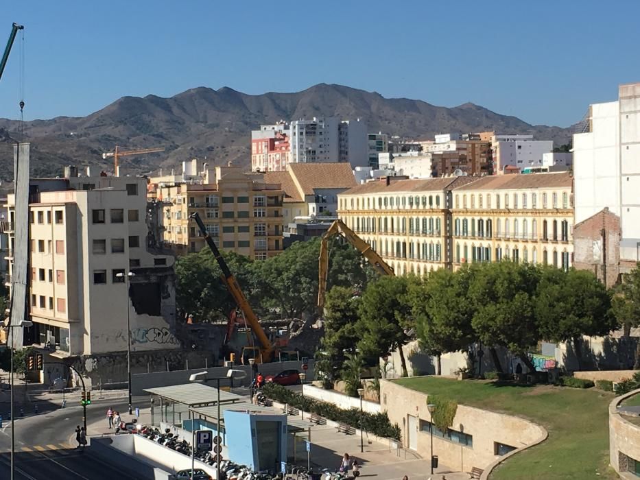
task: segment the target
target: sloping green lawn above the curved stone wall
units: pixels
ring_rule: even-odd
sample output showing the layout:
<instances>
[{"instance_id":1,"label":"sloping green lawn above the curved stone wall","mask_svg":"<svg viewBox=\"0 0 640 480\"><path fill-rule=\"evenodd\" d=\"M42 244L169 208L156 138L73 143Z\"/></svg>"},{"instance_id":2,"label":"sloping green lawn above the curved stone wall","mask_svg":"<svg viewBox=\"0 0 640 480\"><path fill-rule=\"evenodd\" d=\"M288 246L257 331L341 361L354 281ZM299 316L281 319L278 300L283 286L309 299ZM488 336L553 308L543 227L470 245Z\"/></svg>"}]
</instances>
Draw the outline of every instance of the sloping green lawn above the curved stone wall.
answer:
<instances>
[{"instance_id":1,"label":"sloping green lawn above the curved stone wall","mask_svg":"<svg viewBox=\"0 0 640 480\"><path fill-rule=\"evenodd\" d=\"M396 382L462 405L527 418L547 429L549 437L545 442L504 461L493 471L491 480L619 478L608 467L611 393L595 388L457 381L432 376Z\"/></svg>"}]
</instances>

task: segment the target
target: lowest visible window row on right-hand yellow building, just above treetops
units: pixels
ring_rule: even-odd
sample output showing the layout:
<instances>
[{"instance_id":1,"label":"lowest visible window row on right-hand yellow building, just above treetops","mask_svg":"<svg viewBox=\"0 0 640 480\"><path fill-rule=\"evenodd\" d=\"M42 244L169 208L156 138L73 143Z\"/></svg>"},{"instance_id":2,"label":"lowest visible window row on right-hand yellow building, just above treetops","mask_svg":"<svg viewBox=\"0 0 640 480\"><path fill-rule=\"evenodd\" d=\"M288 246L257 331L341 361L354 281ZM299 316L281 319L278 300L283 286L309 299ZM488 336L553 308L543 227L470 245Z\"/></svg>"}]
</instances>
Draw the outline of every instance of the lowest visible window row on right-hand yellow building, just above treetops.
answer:
<instances>
[{"instance_id":1,"label":"lowest visible window row on right-hand yellow building, just above treetops","mask_svg":"<svg viewBox=\"0 0 640 480\"><path fill-rule=\"evenodd\" d=\"M471 257L469 256L471 254ZM518 263L519 261L523 261L525 263L532 263L536 265L538 263L538 250L532 248L531 250L531 258L529 256L528 248L520 249L516 246L509 247L497 247L494 251L495 256L493 257L495 261L501 261L502 259L511 259L512 261ZM476 245L462 245L460 243L455 245L455 263L476 263L476 262L490 262L492 261L492 249L490 246L476 246ZM557 250L553 250L551 252L551 257L549 258L549 252L547 249L543 249L542 251L542 263L543 265L553 265L554 267L562 267L563 270L567 271L569 267L571 267L571 254L569 252L558 252Z\"/></svg>"}]
</instances>

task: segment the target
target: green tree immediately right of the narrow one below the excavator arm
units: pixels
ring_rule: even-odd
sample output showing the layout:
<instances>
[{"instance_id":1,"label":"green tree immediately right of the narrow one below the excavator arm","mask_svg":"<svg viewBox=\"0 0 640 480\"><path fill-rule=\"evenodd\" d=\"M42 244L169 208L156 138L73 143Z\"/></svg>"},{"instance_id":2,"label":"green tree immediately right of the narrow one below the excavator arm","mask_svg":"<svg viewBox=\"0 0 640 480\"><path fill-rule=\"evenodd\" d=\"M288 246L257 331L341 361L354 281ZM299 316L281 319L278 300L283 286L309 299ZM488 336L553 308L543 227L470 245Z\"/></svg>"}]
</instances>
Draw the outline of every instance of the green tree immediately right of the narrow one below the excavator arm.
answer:
<instances>
[{"instance_id":1,"label":"green tree immediately right of the narrow one below the excavator arm","mask_svg":"<svg viewBox=\"0 0 640 480\"><path fill-rule=\"evenodd\" d=\"M408 292L416 281L414 276L381 276L366 287L359 311L359 349L367 357L398 349L402 376L407 376L402 346L410 340L407 331L414 326Z\"/></svg>"}]
</instances>

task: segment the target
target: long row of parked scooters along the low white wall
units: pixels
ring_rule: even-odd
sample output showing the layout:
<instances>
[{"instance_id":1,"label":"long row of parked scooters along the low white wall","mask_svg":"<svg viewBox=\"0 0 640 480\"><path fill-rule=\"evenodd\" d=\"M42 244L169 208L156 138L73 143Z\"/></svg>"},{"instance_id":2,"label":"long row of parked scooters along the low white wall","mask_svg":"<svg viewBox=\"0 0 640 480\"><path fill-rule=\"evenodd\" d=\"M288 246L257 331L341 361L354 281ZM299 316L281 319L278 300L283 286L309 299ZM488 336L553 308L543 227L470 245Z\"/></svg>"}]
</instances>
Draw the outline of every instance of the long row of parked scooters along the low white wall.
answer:
<instances>
[{"instance_id":1,"label":"long row of parked scooters along the low white wall","mask_svg":"<svg viewBox=\"0 0 640 480\"><path fill-rule=\"evenodd\" d=\"M162 433L159 429L142 427L138 433L153 442L157 442L167 448L171 448L171 450L191 457L191 444L189 444L187 440L180 440L178 435L171 433L171 429L165 429L165 433ZM215 464L215 453L195 452L193 456L203 463L217 468ZM254 472L247 466L235 464L230 460L220 461L220 477L220 480L272 480L278 478L272 477L272 475L268 473Z\"/></svg>"}]
</instances>

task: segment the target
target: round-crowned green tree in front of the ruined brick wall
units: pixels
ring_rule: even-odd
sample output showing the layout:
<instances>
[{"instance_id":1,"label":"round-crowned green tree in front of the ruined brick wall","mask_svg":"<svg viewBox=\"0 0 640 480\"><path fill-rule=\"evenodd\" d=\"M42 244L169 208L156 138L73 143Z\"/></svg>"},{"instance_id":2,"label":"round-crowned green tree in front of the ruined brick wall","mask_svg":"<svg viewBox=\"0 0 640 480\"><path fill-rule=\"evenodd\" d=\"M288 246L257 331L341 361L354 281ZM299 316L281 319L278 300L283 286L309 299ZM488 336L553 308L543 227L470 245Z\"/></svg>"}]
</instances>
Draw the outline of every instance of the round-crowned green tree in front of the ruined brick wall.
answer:
<instances>
[{"instance_id":1,"label":"round-crowned green tree in front of the ruined brick wall","mask_svg":"<svg viewBox=\"0 0 640 480\"><path fill-rule=\"evenodd\" d=\"M582 369L582 336L606 335L615 328L611 297L606 287L586 270L542 270L535 311L544 339L571 340Z\"/></svg>"}]
</instances>

